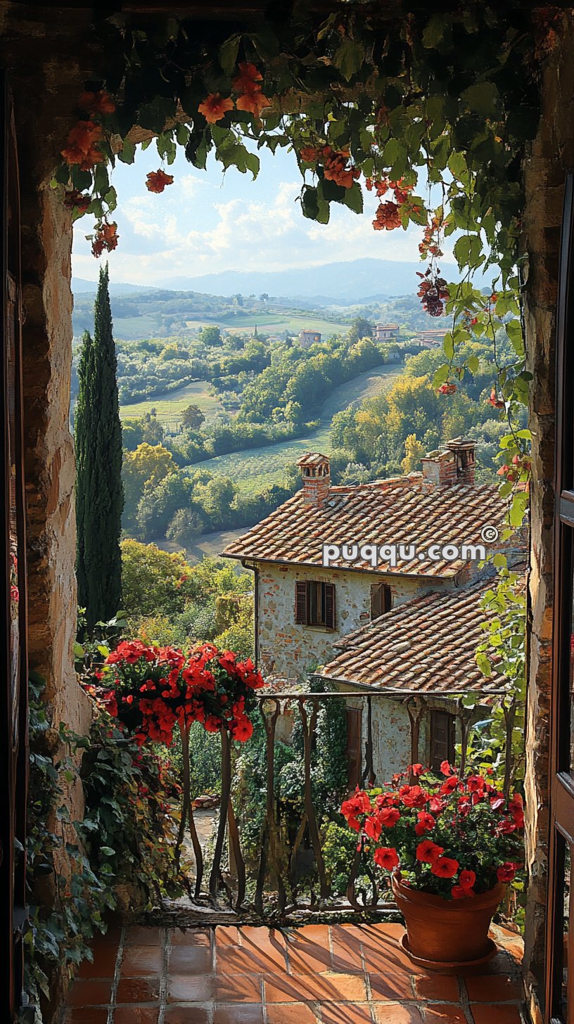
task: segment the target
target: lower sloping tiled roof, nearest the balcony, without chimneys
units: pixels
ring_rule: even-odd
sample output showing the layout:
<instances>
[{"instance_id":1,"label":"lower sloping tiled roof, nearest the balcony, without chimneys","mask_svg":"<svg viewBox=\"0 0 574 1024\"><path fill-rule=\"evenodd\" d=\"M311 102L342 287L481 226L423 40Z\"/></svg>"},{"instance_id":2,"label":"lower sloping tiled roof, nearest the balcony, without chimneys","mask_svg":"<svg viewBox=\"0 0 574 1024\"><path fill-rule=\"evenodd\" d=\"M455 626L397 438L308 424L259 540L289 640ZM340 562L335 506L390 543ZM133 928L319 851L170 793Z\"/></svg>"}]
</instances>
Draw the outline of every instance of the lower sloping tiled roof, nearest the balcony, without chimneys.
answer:
<instances>
[{"instance_id":1,"label":"lower sloping tiled roof, nearest the balcony, without chimneys","mask_svg":"<svg viewBox=\"0 0 574 1024\"><path fill-rule=\"evenodd\" d=\"M335 645L340 653L321 675L415 693L480 690L487 696L502 690L503 677L496 671L483 676L475 660L485 638L481 623L487 618L481 600L493 582L481 580L399 605L340 640ZM489 657L492 664L499 659L494 650Z\"/></svg>"}]
</instances>

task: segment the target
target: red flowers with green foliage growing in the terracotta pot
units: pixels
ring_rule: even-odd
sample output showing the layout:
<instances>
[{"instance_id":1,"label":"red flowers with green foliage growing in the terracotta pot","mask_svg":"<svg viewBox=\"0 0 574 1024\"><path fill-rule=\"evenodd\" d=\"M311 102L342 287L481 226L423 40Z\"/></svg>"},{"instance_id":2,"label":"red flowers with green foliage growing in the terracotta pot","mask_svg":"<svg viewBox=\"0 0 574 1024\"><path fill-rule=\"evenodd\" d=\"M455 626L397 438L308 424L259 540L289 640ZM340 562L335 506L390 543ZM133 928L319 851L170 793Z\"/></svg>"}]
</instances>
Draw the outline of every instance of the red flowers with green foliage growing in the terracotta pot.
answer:
<instances>
[{"instance_id":1,"label":"red flowers with green foliage growing in the terracotta pot","mask_svg":"<svg viewBox=\"0 0 574 1024\"><path fill-rule=\"evenodd\" d=\"M460 778L448 761L441 774L412 765L412 785L396 775L383 792L357 787L341 814L360 834L358 849L372 850L385 870L400 868L409 885L451 899L511 882L522 859L522 797L506 801L484 775Z\"/></svg>"}]
</instances>

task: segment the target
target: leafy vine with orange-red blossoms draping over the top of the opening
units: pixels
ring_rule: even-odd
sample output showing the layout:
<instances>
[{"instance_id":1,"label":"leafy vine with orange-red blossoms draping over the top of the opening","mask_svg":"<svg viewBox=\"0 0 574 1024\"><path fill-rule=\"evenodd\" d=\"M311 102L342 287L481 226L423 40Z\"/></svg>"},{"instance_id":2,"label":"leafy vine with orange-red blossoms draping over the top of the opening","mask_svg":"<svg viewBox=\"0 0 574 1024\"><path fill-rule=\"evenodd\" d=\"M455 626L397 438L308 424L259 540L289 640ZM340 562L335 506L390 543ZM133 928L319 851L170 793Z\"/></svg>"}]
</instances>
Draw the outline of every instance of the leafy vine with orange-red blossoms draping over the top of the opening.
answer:
<instances>
[{"instance_id":1,"label":"leafy vine with orange-red blossoms draping over the top of the opening","mask_svg":"<svg viewBox=\"0 0 574 1024\"><path fill-rule=\"evenodd\" d=\"M382 9L381 9L382 8ZM255 31L174 17L115 15L100 26L106 67L87 83L78 124L53 179L76 219L90 214L95 256L118 245L112 219L116 160L131 164L155 137L161 193L177 147L197 168L213 154L223 170L253 177L257 151L293 152L302 215L327 223L333 203L372 209L376 230L418 225L426 261L418 295L447 315L445 365L435 386L448 396L478 370L461 346L492 341L491 403L508 421L501 490L510 525L526 506L528 433L519 429L530 375L520 318L521 163L538 124L539 67L557 38L560 11L516 2L464 4L416 15L354 0L323 20L296 5L270 12ZM441 271L454 236L460 280ZM490 294L474 287L489 274ZM505 334L516 358L504 366Z\"/></svg>"}]
</instances>

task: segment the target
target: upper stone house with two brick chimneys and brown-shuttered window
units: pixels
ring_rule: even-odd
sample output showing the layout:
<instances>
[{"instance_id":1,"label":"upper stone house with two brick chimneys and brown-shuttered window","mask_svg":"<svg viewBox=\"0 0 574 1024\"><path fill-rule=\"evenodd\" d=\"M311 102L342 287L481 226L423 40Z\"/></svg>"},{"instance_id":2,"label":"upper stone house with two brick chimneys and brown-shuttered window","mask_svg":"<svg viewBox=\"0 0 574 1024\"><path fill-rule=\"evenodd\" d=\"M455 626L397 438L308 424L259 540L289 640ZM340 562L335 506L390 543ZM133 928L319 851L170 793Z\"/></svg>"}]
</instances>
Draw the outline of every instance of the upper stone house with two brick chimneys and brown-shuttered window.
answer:
<instances>
[{"instance_id":1,"label":"upper stone house with two brick chimneys and brown-shuttered window","mask_svg":"<svg viewBox=\"0 0 574 1024\"><path fill-rule=\"evenodd\" d=\"M254 572L255 652L266 674L296 677L326 665L365 624L467 586L479 571L476 546L492 551L482 530L507 525L498 488L475 483L474 441L430 453L421 473L358 486L332 486L324 455L298 466L302 488L222 552ZM398 557L379 561L387 545ZM449 545L457 557L447 548L434 558Z\"/></svg>"}]
</instances>

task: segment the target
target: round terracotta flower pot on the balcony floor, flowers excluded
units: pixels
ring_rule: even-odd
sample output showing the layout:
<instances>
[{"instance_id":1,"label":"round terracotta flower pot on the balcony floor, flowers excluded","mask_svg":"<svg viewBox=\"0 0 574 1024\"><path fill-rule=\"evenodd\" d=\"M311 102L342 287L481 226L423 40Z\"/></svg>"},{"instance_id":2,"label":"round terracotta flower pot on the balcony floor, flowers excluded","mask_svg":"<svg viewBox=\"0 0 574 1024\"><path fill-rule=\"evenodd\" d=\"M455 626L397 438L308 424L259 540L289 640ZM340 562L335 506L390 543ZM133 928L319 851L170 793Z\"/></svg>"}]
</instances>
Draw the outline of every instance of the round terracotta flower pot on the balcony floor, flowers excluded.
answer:
<instances>
[{"instance_id":1,"label":"round terracotta flower pot on the balcony floor, flowers excluded","mask_svg":"<svg viewBox=\"0 0 574 1024\"><path fill-rule=\"evenodd\" d=\"M407 927L402 945L415 964L455 973L494 956L496 946L488 930L504 893L500 882L480 896L459 900L420 892L395 874L392 886Z\"/></svg>"}]
</instances>

